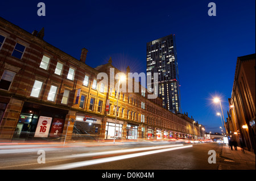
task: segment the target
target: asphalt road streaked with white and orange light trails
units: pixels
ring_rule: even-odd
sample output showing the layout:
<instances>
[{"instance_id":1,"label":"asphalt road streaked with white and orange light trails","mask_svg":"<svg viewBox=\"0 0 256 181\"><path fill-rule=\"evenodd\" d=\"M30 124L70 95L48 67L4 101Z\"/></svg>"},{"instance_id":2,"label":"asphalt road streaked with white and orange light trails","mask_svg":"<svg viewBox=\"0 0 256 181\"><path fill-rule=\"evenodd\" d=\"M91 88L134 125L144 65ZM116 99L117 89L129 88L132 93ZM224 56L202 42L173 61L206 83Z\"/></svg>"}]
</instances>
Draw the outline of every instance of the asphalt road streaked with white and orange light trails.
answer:
<instances>
[{"instance_id":1,"label":"asphalt road streaked with white and orange light trails","mask_svg":"<svg viewBox=\"0 0 256 181\"><path fill-rule=\"evenodd\" d=\"M218 170L220 165L242 169L240 163L221 158L222 144L215 142L127 142L96 146L28 144L0 145L0 149L1 170ZM212 156L209 150L215 151L216 163L208 162Z\"/></svg>"}]
</instances>

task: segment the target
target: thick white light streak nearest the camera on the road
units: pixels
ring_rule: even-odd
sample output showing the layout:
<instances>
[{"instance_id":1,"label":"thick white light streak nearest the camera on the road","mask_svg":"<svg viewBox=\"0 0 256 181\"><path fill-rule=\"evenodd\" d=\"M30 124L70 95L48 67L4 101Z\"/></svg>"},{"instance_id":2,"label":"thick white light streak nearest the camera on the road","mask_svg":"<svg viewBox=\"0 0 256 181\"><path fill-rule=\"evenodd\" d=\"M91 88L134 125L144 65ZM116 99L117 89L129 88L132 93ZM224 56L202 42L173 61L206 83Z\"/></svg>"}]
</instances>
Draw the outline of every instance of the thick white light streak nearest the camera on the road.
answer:
<instances>
[{"instance_id":1,"label":"thick white light streak nearest the camera on the road","mask_svg":"<svg viewBox=\"0 0 256 181\"><path fill-rule=\"evenodd\" d=\"M40 170L73 169L73 168L76 168L76 167L95 165L95 164L98 164L98 163L113 162L113 161L118 161L118 160L121 160L121 159L141 157L141 156L144 156L144 155L150 155L150 154L155 154L155 153L162 153L162 152L165 152L165 151L172 151L172 150L191 148L191 147L192 147L192 145L179 146L179 147L175 147L175 148L168 148L168 149L161 149L161 150L154 150L154 151L146 151L146 152L141 152L141 153L126 154L126 155L120 155L120 156L116 156L116 157L93 159L93 160L89 160L89 161L82 161L82 162L67 163L67 164L63 164L63 165L44 167L44 168L40 168Z\"/></svg>"}]
</instances>

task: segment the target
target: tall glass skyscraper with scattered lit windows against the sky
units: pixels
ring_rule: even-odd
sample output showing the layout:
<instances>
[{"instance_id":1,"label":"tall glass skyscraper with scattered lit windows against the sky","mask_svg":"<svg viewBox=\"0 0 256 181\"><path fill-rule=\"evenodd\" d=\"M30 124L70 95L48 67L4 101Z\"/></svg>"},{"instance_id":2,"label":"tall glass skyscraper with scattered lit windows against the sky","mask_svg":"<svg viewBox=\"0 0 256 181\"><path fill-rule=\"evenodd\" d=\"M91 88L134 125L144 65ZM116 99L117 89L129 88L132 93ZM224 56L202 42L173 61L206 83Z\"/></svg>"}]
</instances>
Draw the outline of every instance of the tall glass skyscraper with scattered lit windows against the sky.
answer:
<instances>
[{"instance_id":1,"label":"tall glass skyscraper with scattered lit windows against the sky","mask_svg":"<svg viewBox=\"0 0 256 181\"><path fill-rule=\"evenodd\" d=\"M163 100L163 107L174 113L181 112L175 35L147 43L148 73L152 77L154 73L158 73L158 96Z\"/></svg>"}]
</instances>

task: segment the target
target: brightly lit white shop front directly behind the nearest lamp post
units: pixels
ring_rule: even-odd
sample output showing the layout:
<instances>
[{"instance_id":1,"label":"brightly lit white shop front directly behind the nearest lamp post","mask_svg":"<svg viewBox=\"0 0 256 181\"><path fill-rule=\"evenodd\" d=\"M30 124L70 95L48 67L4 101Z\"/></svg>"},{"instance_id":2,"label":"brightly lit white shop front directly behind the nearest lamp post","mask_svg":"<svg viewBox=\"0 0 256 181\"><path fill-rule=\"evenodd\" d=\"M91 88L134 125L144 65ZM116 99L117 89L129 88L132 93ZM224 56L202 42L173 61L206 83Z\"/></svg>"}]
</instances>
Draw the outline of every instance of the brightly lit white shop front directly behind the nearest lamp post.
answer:
<instances>
[{"instance_id":1,"label":"brightly lit white shop front directly behind the nearest lamp post","mask_svg":"<svg viewBox=\"0 0 256 181\"><path fill-rule=\"evenodd\" d=\"M114 119L107 119L106 129L105 129L105 139L106 140L121 140L122 139L122 128L123 121L117 120L115 123Z\"/></svg>"}]
</instances>

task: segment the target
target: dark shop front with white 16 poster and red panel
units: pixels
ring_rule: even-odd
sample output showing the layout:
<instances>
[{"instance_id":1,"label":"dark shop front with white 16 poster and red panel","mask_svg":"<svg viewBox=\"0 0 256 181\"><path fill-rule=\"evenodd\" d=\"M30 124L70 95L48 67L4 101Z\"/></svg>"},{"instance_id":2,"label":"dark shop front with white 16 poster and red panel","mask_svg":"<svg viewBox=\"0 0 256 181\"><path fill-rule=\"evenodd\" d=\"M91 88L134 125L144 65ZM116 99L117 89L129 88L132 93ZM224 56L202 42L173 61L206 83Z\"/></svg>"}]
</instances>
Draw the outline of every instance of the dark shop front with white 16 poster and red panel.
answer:
<instances>
[{"instance_id":1,"label":"dark shop front with white 16 poster and red panel","mask_svg":"<svg viewBox=\"0 0 256 181\"><path fill-rule=\"evenodd\" d=\"M67 110L25 102L13 140L60 140Z\"/></svg>"}]
</instances>

